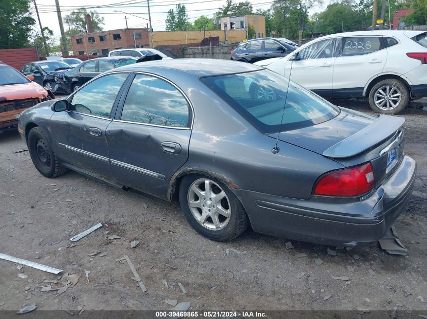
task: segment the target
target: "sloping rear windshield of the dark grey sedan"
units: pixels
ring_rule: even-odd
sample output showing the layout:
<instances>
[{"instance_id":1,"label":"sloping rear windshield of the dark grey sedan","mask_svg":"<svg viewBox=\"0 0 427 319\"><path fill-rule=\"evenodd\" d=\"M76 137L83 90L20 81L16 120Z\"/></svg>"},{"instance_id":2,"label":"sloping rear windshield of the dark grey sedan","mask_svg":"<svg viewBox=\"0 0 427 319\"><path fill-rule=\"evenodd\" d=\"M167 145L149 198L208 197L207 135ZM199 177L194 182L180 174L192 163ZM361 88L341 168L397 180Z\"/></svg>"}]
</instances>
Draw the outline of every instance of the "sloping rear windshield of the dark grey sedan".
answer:
<instances>
[{"instance_id":1,"label":"sloping rear windshield of the dark grey sedan","mask_svg":"<svg viewBox=\"0 0 427 319\"><path fill-rule=\"evenodd\" d=\"M202 82L266 134L315 125L340 113L321 97L269 70L205 77Z\"/></svg>"}]
</instances>

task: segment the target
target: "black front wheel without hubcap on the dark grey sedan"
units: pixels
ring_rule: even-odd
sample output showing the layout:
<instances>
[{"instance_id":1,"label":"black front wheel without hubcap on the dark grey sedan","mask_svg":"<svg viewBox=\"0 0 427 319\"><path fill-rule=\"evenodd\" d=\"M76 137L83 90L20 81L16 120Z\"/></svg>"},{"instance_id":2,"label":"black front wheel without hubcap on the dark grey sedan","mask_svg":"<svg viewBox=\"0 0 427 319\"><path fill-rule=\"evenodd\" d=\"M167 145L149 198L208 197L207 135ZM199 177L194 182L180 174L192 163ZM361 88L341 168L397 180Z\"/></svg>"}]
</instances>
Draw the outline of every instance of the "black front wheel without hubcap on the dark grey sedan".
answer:
<instances>
[{"instance_id":1,"label":"black front wheel without hubcap on the dark grey sedan","mask_svg":"<svg viewBox=\"0 0 427 319\"><path fill-rule=\"evenodd\" d=\"M52 149L48 136L40 127L33 127L28 133L27 146L35 168L43 176L53 178L67 172Z\"/></svg>"}]
</instances>

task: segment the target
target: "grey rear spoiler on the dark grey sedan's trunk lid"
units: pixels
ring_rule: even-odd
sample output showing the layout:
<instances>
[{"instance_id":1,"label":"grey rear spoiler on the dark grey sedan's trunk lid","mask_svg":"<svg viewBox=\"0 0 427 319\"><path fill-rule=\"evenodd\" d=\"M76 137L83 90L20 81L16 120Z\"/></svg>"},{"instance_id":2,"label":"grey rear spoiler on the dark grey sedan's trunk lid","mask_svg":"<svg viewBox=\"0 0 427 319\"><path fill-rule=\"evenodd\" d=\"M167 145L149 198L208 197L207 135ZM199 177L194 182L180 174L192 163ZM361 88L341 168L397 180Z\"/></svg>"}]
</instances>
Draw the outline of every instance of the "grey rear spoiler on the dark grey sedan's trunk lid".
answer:
<instances>
[{"instance_id":1,"label":"grey rear spoiler on the dark grey sedan's trunk lid","mask_svg":"<svg viewBox=\"0 0 427 319\"><path fill-rule=\"evenodd\" d=\"M372 123L359 132L329 147L323 156L345 158L362 153L373 145L391 136L405 122L403 117L379 115Z\"/></svg>"}]
</instances>

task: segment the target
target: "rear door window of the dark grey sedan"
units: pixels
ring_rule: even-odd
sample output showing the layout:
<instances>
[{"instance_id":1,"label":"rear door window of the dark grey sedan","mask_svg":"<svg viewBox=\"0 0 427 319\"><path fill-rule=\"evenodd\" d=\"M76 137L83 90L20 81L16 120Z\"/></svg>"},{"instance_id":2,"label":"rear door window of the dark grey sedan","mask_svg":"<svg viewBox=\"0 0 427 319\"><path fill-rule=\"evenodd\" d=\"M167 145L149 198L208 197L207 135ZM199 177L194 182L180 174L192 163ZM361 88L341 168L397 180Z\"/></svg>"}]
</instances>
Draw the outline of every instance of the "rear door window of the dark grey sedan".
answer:
<instances>
[{"instance_id":1,"label":"rear door window of the dark grey sedan","mask_svg":"<svg viewBox=\"0 0 427 319\"><path fill-rule=\"evenodd\" d=\"M123 105L122 120L186 127L189 113L183 95L161 79L136 75Z\"/></svg>"}]
</instances>

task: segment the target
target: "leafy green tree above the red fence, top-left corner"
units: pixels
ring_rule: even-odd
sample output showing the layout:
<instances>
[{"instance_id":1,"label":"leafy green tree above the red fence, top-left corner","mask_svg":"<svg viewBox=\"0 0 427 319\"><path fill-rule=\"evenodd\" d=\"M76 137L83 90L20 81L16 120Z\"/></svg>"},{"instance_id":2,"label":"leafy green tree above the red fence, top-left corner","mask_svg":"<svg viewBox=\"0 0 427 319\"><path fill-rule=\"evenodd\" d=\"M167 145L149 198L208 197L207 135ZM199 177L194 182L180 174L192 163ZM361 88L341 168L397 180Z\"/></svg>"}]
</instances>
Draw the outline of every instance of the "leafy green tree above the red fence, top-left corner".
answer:
<instances>
[{"instance_id":1,"label":"leafy green tree above the red fence, top-left corner","mask_svg":"<svg viewBox=\"0 0 427 319\"><path fill-rule=\"evenodd\" d=\"M29 0L0 0L0 49L24 48L35 20Z\"/></svg>"}]
</instances>

